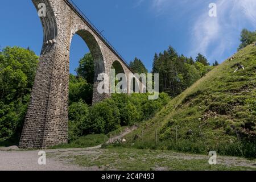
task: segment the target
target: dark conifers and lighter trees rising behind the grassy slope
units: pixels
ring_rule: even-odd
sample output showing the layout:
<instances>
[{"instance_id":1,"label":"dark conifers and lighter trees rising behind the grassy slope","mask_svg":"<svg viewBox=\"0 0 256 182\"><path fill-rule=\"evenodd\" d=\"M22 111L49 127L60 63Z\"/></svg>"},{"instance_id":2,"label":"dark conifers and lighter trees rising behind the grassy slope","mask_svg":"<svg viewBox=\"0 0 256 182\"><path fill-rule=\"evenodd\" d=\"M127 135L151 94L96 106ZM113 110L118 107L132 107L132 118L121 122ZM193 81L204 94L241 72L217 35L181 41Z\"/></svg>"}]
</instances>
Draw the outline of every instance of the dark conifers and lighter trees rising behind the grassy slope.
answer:
<instances>
[{"instance_id":1,"label":"dark conifers and lighter trees rising behind the grassy slope","mask_svg":"<svg viewBox=\"0 0 256 182\"><path fill-rule=\"evenodd\" d=\"M155 53L152 73L159 73L160 92L166 92L175 97L199 78L203 77L212 67L208 60L197 55L196 60L192 57L178 55L173 47L169 47L163 53Z\"/></svg>"}]
</instances>

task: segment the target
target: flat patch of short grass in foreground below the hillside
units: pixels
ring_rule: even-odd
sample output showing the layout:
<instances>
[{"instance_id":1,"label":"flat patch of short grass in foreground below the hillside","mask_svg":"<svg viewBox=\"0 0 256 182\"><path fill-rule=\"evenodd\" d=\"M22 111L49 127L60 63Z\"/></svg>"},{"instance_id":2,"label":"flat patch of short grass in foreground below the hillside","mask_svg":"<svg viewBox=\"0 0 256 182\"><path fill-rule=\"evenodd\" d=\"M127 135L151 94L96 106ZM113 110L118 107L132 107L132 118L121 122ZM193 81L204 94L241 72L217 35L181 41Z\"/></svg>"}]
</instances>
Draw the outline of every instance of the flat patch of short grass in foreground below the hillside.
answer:
<instances>
[{"instance_id":1,"label":"flat patch of short grass in foreground below the hillside","mask_svg":"<svg viewBox=\"0 0 256 182\"><path fill-rule=\"evenodd\" d=\"M82 152L65 154L59 158L82 167L97 167L102 170L256 170L255 160L223 156L217 156L217 165L210 166L207 155L187 155L172 151L115 147Z\"/></svg>"}]
</instances>

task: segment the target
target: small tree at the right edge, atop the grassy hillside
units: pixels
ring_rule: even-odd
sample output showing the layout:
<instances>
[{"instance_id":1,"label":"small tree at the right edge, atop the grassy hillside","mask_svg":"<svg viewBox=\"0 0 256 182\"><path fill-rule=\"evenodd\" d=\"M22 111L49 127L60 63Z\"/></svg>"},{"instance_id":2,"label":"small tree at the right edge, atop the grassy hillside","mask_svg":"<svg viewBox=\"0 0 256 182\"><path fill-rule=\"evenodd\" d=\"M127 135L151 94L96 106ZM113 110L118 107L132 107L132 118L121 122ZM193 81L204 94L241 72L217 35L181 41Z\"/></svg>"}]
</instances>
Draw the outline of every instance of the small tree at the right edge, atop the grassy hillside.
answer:
<instances>
[{"instance_id":1,"label":"small tree at the right edge, atop the grassy hillside","mask_svg":"<svg viewBox=\"0 0 256 182\"><path fill-rule=\"evenodd\" d=\"M256 41L256 31L251 32L246 28L243 28L240 37L241 44L238 51Z\"/></svg>"}]
</instances>

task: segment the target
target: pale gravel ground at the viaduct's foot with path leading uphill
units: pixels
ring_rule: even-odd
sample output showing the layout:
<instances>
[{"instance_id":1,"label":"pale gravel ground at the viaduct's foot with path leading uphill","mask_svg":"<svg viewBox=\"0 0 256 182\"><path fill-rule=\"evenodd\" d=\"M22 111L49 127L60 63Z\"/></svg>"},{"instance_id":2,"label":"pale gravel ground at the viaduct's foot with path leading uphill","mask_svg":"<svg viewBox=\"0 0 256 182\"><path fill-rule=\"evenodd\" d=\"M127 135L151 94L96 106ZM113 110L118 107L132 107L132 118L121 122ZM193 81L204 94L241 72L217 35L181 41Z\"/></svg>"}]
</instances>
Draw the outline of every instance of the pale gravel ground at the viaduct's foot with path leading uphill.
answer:
<instances>
[{"instance_id":1,"label":"pale gravel ground at the viaduct's foot with path leading uphill","mask_svg":"<svg viewBox=\"0 0 256 182\"><path fill-rule=\"evenodd\" d=\"M135 130L137 127L133 127L131 130ZM121 137L130 133L131 130L125 130ZM112 140L119 137L112 138ZM110 140L107 142L110 143ZM89 148L67 148L67 149L53 149L46 151L46 165L39 165L38 156L39 151L22 151L16 146L0 147L0 171L90 171L98 170L98 167L80 167L76 166L69 161L59 160L52 157L53 155L66 155L69 153L77 154L79 151L84 151L86 154L90 154L91 150L101 148L101 144L95 147Z\"/></svg>"}]
</instances>

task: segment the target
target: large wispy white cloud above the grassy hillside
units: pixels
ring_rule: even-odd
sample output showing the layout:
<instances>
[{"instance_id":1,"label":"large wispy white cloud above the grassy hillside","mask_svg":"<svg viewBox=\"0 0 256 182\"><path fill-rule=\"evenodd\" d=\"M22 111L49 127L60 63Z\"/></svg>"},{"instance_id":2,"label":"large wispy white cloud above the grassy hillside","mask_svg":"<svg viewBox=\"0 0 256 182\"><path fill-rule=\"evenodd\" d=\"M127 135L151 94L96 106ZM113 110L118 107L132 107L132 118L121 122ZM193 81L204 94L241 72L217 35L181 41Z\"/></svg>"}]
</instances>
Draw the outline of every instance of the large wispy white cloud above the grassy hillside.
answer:
<instances>
[{"instance_id":1,"label":"large wispy white cloud above the grassy hillside","mask_svg":"<svg viewBox=\"0 0 256 182\"><path fill-rule=\"evenodd\" d=\"M211 18L206 7L195 21L191 34L191 54L201 52L211 61L231 51L243 27L250 24L256 28L255 0L218 0L216 5L217 17Z\"/></svg>"}]
</instances>

